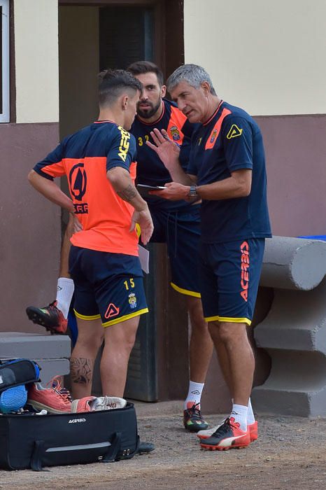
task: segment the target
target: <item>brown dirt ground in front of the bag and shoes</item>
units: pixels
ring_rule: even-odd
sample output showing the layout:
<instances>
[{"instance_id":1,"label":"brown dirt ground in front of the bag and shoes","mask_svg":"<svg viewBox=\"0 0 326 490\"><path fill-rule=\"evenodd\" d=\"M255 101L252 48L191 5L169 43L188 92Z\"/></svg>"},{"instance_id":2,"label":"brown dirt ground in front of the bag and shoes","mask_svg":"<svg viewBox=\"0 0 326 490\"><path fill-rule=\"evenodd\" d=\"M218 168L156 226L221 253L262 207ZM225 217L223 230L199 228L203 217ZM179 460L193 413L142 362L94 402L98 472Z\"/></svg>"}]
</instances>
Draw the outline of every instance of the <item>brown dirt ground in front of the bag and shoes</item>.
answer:
<instances>
[{"instance_id":1,"label":"brown dirt ground in front of the bag and shoes","mask_svg":"<svg viewBox=\"0 0 326 490\"><path fill-rule=\"evenodd\" d=\"M0 489L326 489L326 419L259 416L246 449L204 451L182 426L182 402L136 402L141 440L155 451L117 463L0 470ZM206 417L212 424L222 415Z\"/></svg>"}]
</instances>

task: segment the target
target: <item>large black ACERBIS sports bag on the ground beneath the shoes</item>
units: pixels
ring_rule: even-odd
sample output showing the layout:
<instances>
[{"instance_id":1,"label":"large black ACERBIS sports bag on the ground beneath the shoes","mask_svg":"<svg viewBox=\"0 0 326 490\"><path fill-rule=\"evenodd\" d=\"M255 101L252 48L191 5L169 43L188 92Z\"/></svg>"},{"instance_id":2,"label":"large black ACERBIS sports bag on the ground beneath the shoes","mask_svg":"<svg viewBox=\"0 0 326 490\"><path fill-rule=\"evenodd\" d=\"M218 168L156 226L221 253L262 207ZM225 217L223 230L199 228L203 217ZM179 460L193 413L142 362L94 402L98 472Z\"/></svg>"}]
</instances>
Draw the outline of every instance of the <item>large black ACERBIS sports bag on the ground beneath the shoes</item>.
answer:
<instances>
[{"instance_id":1,"label":"large black ACERBIS sports bag on the ground beneath the shoes","mask_svg":"<svg viewBox=\"0 0 326 490\"><path fill-rule=\"evenodd\" d=\"M71 414L0 415L0 468L41 471L43 466L132 458L139 450L136 412L125 408Z\"/></svg>"}]
</instances>

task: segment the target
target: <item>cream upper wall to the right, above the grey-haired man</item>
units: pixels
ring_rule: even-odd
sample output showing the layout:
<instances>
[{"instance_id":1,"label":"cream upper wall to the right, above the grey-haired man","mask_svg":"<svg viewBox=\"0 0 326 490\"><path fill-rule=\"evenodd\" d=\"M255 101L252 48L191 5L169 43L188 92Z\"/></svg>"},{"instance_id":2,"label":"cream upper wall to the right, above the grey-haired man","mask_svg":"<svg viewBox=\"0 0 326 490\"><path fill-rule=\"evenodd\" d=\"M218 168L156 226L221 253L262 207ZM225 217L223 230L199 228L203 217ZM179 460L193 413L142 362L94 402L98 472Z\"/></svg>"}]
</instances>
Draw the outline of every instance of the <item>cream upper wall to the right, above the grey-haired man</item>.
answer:
<instances>
[{"instance_id":1,"label":"cream upper wall to the right, above the grey-haired man","mask_svg":"<svg viewBox=\"0 0 326 490\"><path fill-rule=\"evenodd\" d=\"M185 0L185 63L254 115L326 113L325 0Z\"/></svg>"}]
</instances>

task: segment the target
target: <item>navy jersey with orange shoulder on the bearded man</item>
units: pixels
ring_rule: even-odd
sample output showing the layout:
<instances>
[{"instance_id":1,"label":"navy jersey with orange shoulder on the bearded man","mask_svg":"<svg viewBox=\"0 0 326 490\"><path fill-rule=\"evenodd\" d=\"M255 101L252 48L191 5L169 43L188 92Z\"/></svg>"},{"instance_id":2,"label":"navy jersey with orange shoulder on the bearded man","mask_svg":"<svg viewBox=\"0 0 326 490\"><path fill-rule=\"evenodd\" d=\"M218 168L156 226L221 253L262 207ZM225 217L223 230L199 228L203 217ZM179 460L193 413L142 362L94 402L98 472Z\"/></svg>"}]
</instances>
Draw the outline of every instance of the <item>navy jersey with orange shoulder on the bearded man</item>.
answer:
<instances>
[{"instance_id":1,"label":"navy jersey with orange shoulder on the bearded man","mask_svg":"<svg viewBox=\"0 0 326 490\"><path fill-rule=\"evenodd\" d=\"M166 130L169 137L180 146L179 160L180 164L187 172L187 165L190 158L190 146L192 132L198 125L189 123L185 115L178 109L174 102L163 99L163 111L159 119L154 123L145 123L137 116L132 125L130 132L136 138L137 148L137 182L147 184L148 186L164 186L165 183L171 182L171 175L164 166L164 163L149 146L146 141L153 143L150 132L155 129ZM157 196L145 196L144 199L151 206L160 207L160 209L169 209L169 211L187 208L190 206L185 201L168 201Z\"/></svg>"}]
</instances>

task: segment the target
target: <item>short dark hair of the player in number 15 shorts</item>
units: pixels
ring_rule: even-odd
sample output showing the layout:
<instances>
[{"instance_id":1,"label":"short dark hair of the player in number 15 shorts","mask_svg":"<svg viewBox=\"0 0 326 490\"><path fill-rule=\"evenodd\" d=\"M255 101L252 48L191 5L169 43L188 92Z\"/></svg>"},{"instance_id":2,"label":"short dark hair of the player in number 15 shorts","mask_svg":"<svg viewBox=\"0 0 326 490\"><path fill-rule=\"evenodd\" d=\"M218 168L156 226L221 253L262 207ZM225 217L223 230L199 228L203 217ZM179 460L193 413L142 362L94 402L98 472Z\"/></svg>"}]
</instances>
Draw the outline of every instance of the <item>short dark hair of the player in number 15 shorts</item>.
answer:
<instances>
[{"instance_id":1,"label":"short dark hair of the player in number 15 shorts","mask_svg":"<svg viewBox=\"0 0 326 490\"><path fill-rule=\"evenodd\" d=\"M139 90L143 87L139 80L134 78L129 71L104 70L98 75L99 78L99 105L110 105L121 95L124 90Z\"/></svg>"}]
</instances>

